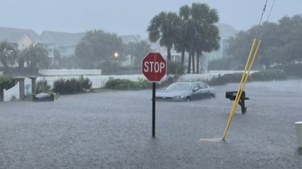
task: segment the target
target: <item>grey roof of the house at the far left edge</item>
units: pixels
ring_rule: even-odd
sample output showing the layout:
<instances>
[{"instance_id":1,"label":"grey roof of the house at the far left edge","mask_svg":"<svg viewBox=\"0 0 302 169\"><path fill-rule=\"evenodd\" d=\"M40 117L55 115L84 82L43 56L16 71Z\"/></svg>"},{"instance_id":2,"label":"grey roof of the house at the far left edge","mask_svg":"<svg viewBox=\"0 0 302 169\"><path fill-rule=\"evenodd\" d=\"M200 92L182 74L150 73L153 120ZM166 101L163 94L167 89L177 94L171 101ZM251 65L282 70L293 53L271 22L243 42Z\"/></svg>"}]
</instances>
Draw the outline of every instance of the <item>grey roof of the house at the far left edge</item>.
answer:
<instances>
[{"instance_id":1,"label":"grey roof of the house at the far left edge","mask_svg":"<svg viewBox=\"0 0 302 169\"><path fill-rule=\"evenodd\" d=\"M19 29L11 27L0 27L0 40L8 40L10 43L17 43L25 35L29 35L35 42L42 42L40 36L32 29Z\"/></svg>"}]
</instances>

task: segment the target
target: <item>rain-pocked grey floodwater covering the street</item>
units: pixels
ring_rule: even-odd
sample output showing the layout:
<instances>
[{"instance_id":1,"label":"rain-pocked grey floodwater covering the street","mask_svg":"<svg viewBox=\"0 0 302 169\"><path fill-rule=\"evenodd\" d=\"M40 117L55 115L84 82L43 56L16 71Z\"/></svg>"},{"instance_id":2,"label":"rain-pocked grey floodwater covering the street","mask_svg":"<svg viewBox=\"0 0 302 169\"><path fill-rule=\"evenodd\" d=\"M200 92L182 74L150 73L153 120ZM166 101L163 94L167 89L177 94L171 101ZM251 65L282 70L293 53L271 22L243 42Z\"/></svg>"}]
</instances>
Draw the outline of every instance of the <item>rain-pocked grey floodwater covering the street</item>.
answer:
<instances>
[{"instance_id":1,"label":"rain-pocked grey floodwater covering the street","mask_svg":"<svg viewBox=\"0 0 302 169\"><path fill-rule=\"evenodd\" d=\"M154 139L151 90L0 103L0 168L301 168L302 82L248 83L247 113L238 106L222 142L233 104L225 92L237 86L214 87L216 99L156 103Z\"/></svg>"}]
</instances>

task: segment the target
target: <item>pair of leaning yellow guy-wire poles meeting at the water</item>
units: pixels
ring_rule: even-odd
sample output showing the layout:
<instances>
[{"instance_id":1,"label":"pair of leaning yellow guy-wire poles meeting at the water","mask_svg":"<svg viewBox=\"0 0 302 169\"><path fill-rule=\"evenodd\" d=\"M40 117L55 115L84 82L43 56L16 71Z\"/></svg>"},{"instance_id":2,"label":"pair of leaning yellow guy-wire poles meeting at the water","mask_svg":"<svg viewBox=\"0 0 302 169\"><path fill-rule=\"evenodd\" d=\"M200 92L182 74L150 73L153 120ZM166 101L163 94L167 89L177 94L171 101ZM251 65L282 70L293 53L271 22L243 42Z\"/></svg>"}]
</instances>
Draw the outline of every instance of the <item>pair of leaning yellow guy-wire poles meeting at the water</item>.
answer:
<instances>
[{"instance_id":1,"label":"pair of leaning yellow guy-wire poles meeting at the water","mask_svg":"<svg viewBox=\"0 0 302 169\"><path fill-rule=\"evenodd\" d=\"M256 51L255 51L255 53L254 53L254 55L253 55L253 60L252 60L252 62L251 62L251 64L250 64L249 61L251 60L251 55L252 55L253 49L254 49L254 47L255 47L255 42L256 42L256 39L254 39L253 44L252 44L252 47L251 47L251 51L250 51L250 53L249 53L249 55L248 55L248 61L246 62L246 66L245 66L245 68L244 68L244 73L243 73L242 79L241 79L241 81L240 81L240 86L239 86L239 88L238 88L238 90L237 90L236 99L235 99L235 101L234 101L234 103L233 103L233 107L232 107L232 110L231 110L231 114L230 114L229 120L228 120L228 122L227 122L227 127L224 129L224 133L223 133L223 136L222 136L222 140L225 140L225 138L226 138L226 136L227 136L227 131L229 131L229 126L230 126L230 124L231 124L231 120L233 119L233 116L234 116L234 114L235 114L235 110L237 109L237 105L238 105L238 103L239 103L239 101L240 101L240 97L241 97L241 95L242 95L242 91L244 90L245 83L246 83L246 81L247 81L247 79L248 79L248 75L249 75L249 73L251 72L251 68L253 67L253 62L255 62L255 57L256 57L256 55L257 55L257 53L258 53L258 51L259 51L259 46L260 46L262 40L259 40L259 42L258 42L258 44L257 44L257 49L256 49ZM246 73L246 68L248 67L248 65L250 65L249 68L248 68L248 74L245 75L245 73ZM244 77L245 77L245 78L244 78ZM242 81L243 81L243 79L244 79L244 83L243 83L243 87L242 87Z\"/></svg>"}]
</instances>

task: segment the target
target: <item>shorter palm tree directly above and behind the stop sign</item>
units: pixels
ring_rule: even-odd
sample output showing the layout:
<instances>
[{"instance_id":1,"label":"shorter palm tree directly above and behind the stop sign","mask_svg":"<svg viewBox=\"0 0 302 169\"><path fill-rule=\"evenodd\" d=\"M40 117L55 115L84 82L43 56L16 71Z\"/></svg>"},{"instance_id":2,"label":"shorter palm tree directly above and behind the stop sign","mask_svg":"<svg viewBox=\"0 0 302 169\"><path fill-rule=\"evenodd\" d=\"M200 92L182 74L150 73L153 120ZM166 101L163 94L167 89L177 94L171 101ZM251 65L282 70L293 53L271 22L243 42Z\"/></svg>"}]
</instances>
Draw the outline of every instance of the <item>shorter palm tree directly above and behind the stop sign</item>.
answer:
<instances>
[{"instance_id":1,"label":"shorter palm tree directly above and behind the stop sign","mask_svg":"<svg viewBox=\"0 0 302 169\"><path fill-rule=\"evenodd\" d=\"M176 43L181 19L175 12L161 12L152 18L147 29L149 40L167 47L167 60L171 60L171 49Z\"/></svg>"}]
</instances>

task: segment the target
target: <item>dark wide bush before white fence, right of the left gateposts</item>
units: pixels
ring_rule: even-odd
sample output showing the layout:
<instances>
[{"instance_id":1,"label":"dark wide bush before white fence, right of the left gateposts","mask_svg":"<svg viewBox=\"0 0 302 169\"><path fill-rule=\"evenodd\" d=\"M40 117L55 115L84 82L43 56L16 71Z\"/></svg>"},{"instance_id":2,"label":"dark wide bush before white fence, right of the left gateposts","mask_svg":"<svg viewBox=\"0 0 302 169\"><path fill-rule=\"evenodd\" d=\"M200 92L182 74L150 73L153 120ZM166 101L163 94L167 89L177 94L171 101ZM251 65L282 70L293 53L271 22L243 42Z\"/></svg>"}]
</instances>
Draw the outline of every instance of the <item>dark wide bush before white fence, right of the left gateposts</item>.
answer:
<instances>
[{"instance_id":1,"label":"dark wide bush before white fence, right of the left gateposts","mask_svg":"<svg viewBox=\"0 0 302 169\"><path fill-rule=\"evenodd\" d=\"M73 94L83 92L91 88L91 81L88 78L80 77L79 79L58 79L54 81L54 92L60 94Z\"/></svg>"}]
</instances>

